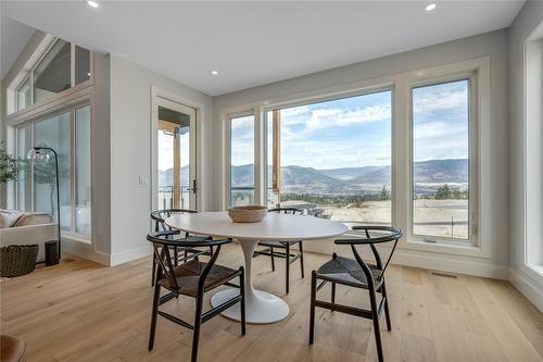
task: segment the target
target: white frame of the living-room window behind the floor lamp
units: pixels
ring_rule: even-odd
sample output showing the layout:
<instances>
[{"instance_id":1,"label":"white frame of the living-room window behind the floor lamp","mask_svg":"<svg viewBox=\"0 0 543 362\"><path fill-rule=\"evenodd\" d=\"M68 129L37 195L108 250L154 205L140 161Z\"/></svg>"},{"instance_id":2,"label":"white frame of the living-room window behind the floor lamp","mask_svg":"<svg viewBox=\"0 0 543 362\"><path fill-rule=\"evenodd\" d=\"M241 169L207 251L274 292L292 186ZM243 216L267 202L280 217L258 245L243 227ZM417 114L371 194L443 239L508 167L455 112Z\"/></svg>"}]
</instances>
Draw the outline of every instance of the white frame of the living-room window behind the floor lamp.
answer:
<instances>
[{"instance_id":1,"label":"white frame of the living-room window behind the floor lamp","mask_svg":"<svg viewBox=\"0 0 543 362\"><path fill-rule=\"evenodd\" d=\"M48 118L58 116L60 114L68 113L70 112L70 213L71 213L71 223L70 223L70 230L62 230L63 236L67 236L70 238L78 239L85 242L90 244L91 242L91 237L92 237L92 227L91 227L91 233L89 235L86 234L80 234L76 233L76 226L75 226L75 213L76 213L76 202L75 202L75 191L76 191L76 175L75 175L75 152L76 152L76 134L75 134L75 122L76 122L76 116L75 112L78 109L89 107L90 112L91 112L91 127L92 127L92 107L90 99L86 99L79 102L75 102L73 104L68 104L66 107L55 109L52 112L48 112L46 114L40 114L37 117L30 118L28 121L24 121L21 123L17 123L14 128L15 128L15 138L14 138L14 149L15 151L15 157L16 158L22 158L26 159L26 154L18 154L18 132L21 128L30 125L30 139L31 139L31 145L33 147L35 146L35 124L38 122L47 121ZM91 135L92 137L92 135ZM92 145L90 145L92 148ZM91 151L91 150L90 150ZM92 162L92 161L91 161ZM91 165L92 167L92 165ZM31 204L31 212L35 211L35 183L34 183L34 165L30 164L30 204ZM18 184L14 185L15 187L15 207L18 209ZM93 195L93 185L92 180L90 184L90 192ZM92 196L91 196L91 208L92 208ZM92 212L90 213L90 224L92 225Z\"/></svg>"}]
</instances>

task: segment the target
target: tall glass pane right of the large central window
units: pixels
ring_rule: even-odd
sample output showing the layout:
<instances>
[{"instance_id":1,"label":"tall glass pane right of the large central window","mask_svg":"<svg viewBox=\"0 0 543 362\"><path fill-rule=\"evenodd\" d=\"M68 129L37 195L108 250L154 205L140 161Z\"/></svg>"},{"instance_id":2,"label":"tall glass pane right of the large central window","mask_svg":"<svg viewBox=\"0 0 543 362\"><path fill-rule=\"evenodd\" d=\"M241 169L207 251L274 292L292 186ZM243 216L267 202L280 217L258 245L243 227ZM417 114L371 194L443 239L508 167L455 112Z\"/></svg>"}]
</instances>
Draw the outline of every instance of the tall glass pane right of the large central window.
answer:
<instances>
[{"instance_id":1,"label":"tall glass pane right of the large central window","mask_svg":"<svg viewBox=\"0 0 543 362\"><path fill-rule=\"evenodd\" d=\"M412 88L413 234L470 238L470 79Z\"/></svg>"}]
</instances>

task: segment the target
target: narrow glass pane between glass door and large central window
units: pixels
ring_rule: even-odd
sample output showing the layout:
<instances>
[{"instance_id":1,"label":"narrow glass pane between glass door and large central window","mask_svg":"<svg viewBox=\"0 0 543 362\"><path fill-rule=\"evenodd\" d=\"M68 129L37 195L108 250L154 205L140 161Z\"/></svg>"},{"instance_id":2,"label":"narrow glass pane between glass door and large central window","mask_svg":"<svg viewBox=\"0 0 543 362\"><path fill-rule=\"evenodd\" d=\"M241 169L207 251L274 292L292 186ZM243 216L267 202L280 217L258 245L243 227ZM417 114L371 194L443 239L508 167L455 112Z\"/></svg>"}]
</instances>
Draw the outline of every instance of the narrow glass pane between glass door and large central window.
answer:
<instances>
[{"instance_id":1,"label":"narrow glass pane between glass door and large central window","mask_svg":"<svg viewBox=\"0 0 543 362\"><path fill-rule=\"evenodd\" d=\"M254 115L230 118L230 204L254 204Z\"/></svg>"}]
</instances>

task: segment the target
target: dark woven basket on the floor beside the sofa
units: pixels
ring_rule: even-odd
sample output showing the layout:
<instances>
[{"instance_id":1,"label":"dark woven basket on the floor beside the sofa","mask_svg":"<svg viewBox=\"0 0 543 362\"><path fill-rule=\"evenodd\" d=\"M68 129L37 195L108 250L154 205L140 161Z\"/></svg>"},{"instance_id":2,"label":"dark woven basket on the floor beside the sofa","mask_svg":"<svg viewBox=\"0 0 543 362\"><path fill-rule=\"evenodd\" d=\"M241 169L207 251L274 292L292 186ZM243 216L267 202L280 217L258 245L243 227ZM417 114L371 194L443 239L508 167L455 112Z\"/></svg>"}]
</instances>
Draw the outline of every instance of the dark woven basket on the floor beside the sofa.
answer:
<instances>
[{"instance_id":1,"label":"dark woven basket on the floor beside the sofa","mask_svg":"<svg viewBox=\"0 0 543 362\"><path fill-rule=\"evenodd\" d=\"M14 277L34 272L38 245L10 245L0 248L0 276Z\"/></svg>"}]
</instances>

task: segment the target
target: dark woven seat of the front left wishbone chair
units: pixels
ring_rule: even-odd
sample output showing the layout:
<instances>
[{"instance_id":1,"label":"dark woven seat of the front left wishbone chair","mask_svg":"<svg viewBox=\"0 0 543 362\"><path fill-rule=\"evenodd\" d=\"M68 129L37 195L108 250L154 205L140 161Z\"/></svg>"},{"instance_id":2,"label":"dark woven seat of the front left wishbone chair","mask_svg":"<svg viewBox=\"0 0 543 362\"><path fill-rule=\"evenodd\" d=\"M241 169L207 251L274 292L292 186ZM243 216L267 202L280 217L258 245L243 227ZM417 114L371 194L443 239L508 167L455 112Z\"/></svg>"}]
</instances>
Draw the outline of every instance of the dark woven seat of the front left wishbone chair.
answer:
<instances>
[{"instance_id":1,"label":"dark woven seat of the front left wishbone chair","mask_svg":"<svg viewBox=\"0 0 543 362\"><path fill-rule=\"evenodd\" d=\"M176 291L184 296L195 297L198 295L198 282L206 264L207 263L193 259L174 267L174 274L179 289L176 288L175 282L171 277L163 277L157 283L161 287L168 290ZM205 278L204 291L214 289L239 274L239 270L215 264Z\"/></svg>"}]
</instances>

